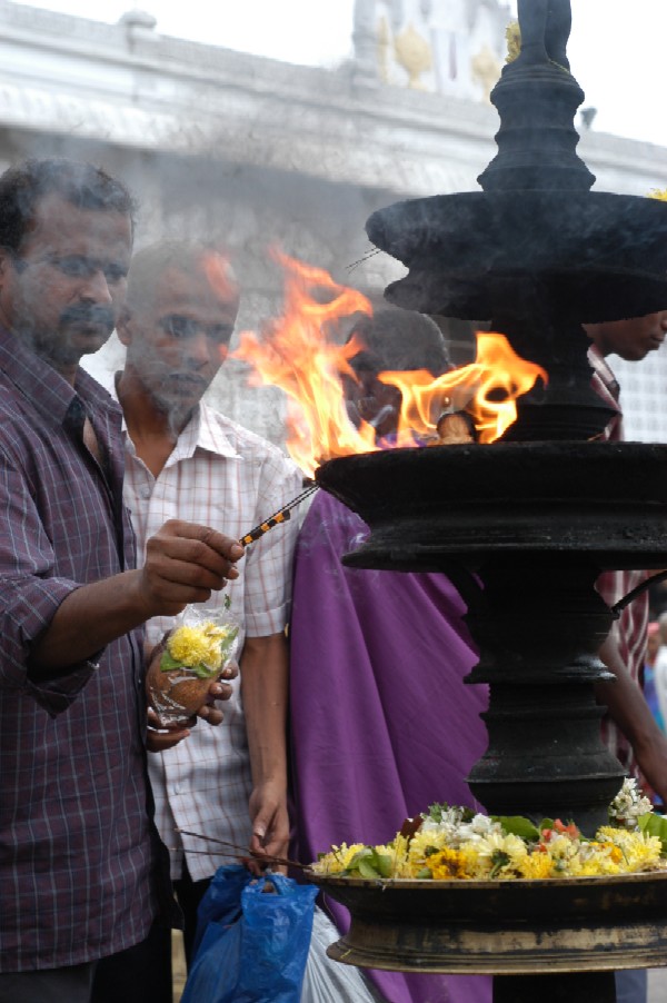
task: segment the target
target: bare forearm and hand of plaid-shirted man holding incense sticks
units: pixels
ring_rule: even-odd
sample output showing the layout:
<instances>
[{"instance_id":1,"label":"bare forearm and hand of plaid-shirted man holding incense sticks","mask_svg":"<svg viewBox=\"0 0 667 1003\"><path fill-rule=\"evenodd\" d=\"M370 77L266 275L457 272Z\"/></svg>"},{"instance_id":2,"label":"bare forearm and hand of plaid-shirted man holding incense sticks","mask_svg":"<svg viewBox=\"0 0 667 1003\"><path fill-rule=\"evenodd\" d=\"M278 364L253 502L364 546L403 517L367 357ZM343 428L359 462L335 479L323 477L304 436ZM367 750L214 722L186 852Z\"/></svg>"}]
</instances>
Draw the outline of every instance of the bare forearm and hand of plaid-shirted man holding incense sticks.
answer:
<instances>
[{"instance_id":1,"label":"bare forearm and hand of plaid-shirted man holding incense sticks","mask_svg":"<svg viewBox=\"0 0 667 1003\"><path fill-rule=\"evenodd\" d=\"M149 539L141 570L123 572L70 593L34 645L31 675L46 678L91 657L151 616L173 616L238 576L236 540L172 519Z\"/></svg>"}]
</instances>

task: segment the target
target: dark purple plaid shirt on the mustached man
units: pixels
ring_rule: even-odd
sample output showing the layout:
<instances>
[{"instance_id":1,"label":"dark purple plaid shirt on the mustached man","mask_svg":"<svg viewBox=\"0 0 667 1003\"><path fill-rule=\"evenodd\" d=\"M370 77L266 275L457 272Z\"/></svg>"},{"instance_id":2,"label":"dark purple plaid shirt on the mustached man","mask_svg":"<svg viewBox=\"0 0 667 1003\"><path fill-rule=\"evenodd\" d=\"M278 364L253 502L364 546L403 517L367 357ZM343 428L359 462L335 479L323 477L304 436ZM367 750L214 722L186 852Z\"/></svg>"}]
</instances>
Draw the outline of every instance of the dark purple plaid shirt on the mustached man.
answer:
<instances>
[{"instance_id":1,"label":"dark purple plaid shirt on the mustached man","mask_svg":"<svg viewBox=\"0 0 667 1003\"><path fill-rule=\"evenodd\" d=\"M104 456L83 444L84 416ZM50 684L34 640L80 585L133 567L120 413L0 330L0 971L94 961L156 911L141 634ZM100 616L104 610L99 612Z\"/></svg>"}]
</instances>

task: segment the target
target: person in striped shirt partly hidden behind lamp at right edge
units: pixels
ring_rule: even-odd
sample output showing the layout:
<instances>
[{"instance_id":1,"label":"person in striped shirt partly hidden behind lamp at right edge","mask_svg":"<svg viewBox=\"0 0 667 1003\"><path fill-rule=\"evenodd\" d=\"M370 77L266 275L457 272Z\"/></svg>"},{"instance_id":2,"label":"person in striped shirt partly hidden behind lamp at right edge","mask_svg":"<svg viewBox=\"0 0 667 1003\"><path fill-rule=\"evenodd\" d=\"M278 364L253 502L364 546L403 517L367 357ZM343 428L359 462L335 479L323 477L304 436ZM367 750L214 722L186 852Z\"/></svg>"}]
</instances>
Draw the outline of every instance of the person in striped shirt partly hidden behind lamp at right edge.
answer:
<instances>
[{"instance_id":1,"label":"person in striped shirt partly hidden behind lamp at right edge","mask_svg":"<svg viewBox=\"0 0 667 1003\"><path fill-rule=\"evenodd\" d=\"M656 351L665 340L667 310L644 317L585 325L593 341L588 358L593 366L593 385L615 411L604 438L623 441L620 387L606 357L618 355L637 363ZM645 572L606 572L597 589L609 606L631 592L646 578ZM657 797L667 797L667 736L660 731L641 692L641 675L648 628L648 592L641 593L624 608L600 649L600 658L616 677L598 683L599 703L606 704L603 733L609 749L630 776L644 777ZM646 972L617 972L618 1003L645 1003Z\"/></svg>"}]
</instances>

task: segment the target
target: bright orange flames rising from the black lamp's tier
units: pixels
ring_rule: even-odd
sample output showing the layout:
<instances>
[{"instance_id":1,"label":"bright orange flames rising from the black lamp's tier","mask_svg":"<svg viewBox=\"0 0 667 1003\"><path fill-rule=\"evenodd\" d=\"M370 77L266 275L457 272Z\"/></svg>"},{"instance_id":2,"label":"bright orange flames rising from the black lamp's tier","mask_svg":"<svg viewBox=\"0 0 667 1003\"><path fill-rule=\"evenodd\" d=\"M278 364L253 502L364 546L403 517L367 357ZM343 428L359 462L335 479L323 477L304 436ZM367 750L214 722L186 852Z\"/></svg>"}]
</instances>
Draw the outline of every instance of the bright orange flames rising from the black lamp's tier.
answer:
<instances>
[{"instance_id":1,"label":"bright orange flames rising from the black lamp's tier","mask_svg":"<svg viewBox=\"0 0 667 1003\"><path fill-rule=\"evenodd\" d=\"M426 369L386 371L381 383L401 393L396 438L376 441L375 428L348 417L342 377L357 381L349 360L364 345L354 336L346 345L331 338L334 321L355 312L372 315L369 300L340 286L323 269L280 252L285 268L285 308L258 338L243 331L233 358L252 367L250 381L281 387L288 395L287 448L308 475L325 459L398 446L438 441L442 410L467 410L481 443L491 443L516 420L516 398L526 394L545 370L516 355L505 335L479 334L477 358L469 366L435 378ZM320 294L316 298L315 290ZM319 299L326 298L326 302Z\"/></svg>"}]
</instances>

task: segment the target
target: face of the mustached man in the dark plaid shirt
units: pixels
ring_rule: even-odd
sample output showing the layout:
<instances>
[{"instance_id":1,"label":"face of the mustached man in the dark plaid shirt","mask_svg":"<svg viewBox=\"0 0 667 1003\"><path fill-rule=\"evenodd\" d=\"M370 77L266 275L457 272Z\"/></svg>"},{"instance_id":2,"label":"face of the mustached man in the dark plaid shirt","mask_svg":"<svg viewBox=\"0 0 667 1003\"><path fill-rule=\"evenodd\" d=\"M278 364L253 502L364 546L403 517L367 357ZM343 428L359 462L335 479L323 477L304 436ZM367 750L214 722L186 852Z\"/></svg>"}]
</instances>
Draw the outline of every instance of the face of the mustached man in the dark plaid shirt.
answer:
<instances>
[{"instance_id":1,"label":"face of the mustached man in the dark plaid shirt","mask_svg":"<svg viewBox=\"0 0 667 1003\"><path fill-rule=\"evenodd\" d=\"M56 369L76 366L113 330L131 248L129 216L46 196L18 254L0 249L0 320Z\"/></svg>"}]
</instances>

